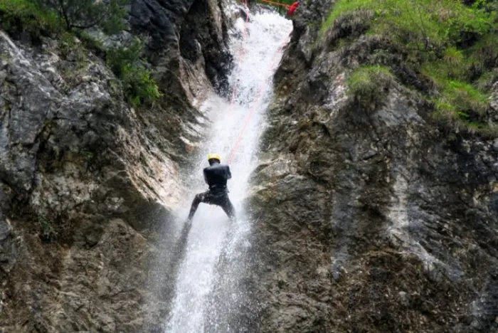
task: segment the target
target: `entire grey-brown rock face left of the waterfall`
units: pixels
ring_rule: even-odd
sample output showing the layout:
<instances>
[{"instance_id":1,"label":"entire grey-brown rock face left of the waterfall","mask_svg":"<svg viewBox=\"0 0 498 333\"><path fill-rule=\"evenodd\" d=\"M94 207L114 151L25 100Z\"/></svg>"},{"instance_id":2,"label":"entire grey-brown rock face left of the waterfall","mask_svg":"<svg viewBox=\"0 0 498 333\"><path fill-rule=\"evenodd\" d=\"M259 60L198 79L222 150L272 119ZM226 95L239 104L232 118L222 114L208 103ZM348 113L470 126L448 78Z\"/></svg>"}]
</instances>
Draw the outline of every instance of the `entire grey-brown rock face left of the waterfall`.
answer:
<instances>
[{"instance_id":1,"label":"entire grey-brown rock face left of the waterfall","mask_svg":"<svg viewBox=\"0 0 498 333\"><path fill-rule=\"evenodd\" d=\"M35 49L0 31L2 332L139 332L164 315L144 306L161 297L148 265L203 134L193 103L230 61L228 23L209 0L132 1L130 22L164 94L139 110L79 41Z\"/></svg>"}]
</instances>

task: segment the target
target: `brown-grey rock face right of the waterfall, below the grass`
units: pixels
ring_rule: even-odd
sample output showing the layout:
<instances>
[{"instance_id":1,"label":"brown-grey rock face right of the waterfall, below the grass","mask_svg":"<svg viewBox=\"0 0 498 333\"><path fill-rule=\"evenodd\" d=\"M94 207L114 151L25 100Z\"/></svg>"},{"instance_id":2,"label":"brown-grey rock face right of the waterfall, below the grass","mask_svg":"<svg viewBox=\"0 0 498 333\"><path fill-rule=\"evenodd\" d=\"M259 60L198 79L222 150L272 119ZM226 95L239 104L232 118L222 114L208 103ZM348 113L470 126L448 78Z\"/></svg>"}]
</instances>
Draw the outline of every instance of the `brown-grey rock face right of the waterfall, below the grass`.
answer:
<instances>
[{"instance_id":1,"label":"brown-grey rock face right of the waterfall, below the grass","mask_svg":"<svg viewBox=\"0 0 498 333\"><path fill-rule=\"evenodd\" d=\"M496 331L497 141L451 133L396 81L381 102L349 96L349 65L382 44L327 46L327 4L300 7L275 75L250 198L253 327Z\"/></svg>"}]
</instances>

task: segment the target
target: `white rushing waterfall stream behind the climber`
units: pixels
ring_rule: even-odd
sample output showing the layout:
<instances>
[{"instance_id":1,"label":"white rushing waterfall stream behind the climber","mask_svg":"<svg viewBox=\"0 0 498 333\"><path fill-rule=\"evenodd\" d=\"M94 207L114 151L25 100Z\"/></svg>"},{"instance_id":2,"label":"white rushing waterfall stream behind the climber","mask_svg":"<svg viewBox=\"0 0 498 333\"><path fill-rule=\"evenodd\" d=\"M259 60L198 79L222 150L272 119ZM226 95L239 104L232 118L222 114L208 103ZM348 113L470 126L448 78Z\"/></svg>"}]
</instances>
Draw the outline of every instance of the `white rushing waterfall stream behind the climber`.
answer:
<instances>
[{"instance_id":1,"label":"white rushing waterfall stream behind the climber","mask_svg":"<svg viewBox=\"0 0 498 333\"><path fill-rule=\"evenodd\" d=\"M228 181L228 188L238 220L231 223L217 206L204 203L199 206L179 267L166 332L206 330L204 323L211 319L208 297L213 285L221 283L216 281L219 275L216 263L222 251L228 257L233 255L234 244L244 243L250 232L250 221L244 216L242 203L248 178L257 165L258 139L272 96L272 75L291 31L292 23L273 13L253 14L248 22L239 18L235 24L231 39L235 68L230 77L235 98L231 101L213 93L202 106L213 122L213 132L201 149L196 169L191 172L194 184L191 198L180 213L186 218L191 199L196 193L206 191L202 169L207 166L208 153L216 152L221 154L222 163L228 162L231 167L233 178ZM232 92L229 95L232 99Z\"/></svg>"}]
</instances>

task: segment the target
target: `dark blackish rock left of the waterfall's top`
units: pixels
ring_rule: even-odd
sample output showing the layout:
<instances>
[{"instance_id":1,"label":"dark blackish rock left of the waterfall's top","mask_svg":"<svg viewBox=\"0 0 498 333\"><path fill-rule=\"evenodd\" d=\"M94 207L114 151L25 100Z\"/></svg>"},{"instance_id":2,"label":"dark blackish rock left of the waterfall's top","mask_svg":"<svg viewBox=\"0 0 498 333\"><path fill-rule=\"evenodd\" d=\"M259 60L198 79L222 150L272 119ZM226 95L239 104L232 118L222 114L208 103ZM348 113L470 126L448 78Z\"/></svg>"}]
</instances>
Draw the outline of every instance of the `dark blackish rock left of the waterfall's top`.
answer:
<instances>
[{"instance_id":1,"label":"dark blackish rock left of the waterfall's top","mask_svg":"<svg viewBox=\"0 0 498 333\"><path fill-rule=\"evenodd\" d=\"M166 65L166 68L186 67L186 73L191 71L207 77L223 92L228 88L231 65L227 44L231 23L222 6L226 6L225 1L134 0L130 23L136 31L151 37L149 58L152 63ZM169 72L157 75L166 75L167 80L175 79ZM186 81L175 85L183 85Z\"/></svg>"}]
</instances>

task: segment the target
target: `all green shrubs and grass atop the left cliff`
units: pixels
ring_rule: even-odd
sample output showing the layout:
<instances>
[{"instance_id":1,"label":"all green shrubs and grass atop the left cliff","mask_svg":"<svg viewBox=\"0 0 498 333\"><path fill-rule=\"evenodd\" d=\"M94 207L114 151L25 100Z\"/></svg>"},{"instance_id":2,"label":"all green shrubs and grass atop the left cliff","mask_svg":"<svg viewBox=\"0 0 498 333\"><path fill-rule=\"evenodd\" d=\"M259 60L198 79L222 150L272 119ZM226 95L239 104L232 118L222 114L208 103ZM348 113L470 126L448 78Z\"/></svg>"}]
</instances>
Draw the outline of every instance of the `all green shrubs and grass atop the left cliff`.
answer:
<instances>
[{"instance_id":1,"label":"all green shrubs and grass atop the left cliff","mask_svg":"<svg viewBox=\"0 0 498 333\"><path fill-rule=\"evenodd\" d=\"M11 34L22 31L33 37L58 36L63 56L84 63L85 49L105 54L108 65L122 81L127 100L139 106L161 95L146 63L140 58L144 44L135 38L129 46L110 51L85 32L98 27L107 34L122 31L129 0L0 0L1 28ZM78 38L76 38L78 36ZM79 41L83 42L80 43Z\"/></svg>"}]
</instances>

